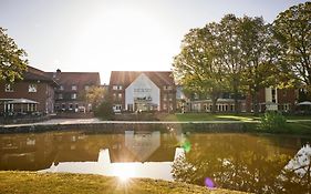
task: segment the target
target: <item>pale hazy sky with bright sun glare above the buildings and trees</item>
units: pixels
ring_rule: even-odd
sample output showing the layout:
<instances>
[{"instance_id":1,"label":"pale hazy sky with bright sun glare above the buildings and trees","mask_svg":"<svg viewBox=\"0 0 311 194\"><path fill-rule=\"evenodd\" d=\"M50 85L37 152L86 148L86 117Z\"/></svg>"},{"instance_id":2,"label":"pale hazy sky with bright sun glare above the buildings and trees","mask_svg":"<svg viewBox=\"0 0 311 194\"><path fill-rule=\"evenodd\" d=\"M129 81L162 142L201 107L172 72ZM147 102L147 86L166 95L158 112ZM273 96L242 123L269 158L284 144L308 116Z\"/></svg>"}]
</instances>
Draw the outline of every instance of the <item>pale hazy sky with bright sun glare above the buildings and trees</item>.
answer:
<instances>
[{"instance_id":1,"label":"pale hazy sky with bright sun glare above the buildings and trees","mask_svg":"<svg viewBox=\"0 0 311 194\"><path fill-rule=\"evenodd\" d=\"M263 17L303 0L0 0L0 27L42 71L169 71L184 35L227 13Z\"/></svg>"}]
</instances>

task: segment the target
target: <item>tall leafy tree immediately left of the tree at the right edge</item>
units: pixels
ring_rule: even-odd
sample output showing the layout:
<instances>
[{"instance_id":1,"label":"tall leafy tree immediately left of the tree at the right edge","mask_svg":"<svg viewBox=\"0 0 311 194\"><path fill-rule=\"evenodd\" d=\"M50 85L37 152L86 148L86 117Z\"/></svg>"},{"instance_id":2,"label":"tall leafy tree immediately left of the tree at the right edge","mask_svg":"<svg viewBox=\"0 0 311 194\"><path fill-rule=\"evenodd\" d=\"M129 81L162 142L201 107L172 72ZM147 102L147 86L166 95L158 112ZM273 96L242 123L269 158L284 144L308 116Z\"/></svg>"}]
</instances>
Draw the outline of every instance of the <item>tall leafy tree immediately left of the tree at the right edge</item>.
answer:
<instances>
[{"instance_id":1,"label":"tall leafy tree immediately left of the tree at the right edge","mask_svg":"<svg viewBox=\"0 0 311 194\"><path fill-rule=\"evenodd\" d=\"M259 90L277 84L277 55L269 24L262 18L243 17L239 19L237 34L241 49L241 60L246 64L242 82L247 86L253 113L258 114Z\"/></svg>"}]
</instances>

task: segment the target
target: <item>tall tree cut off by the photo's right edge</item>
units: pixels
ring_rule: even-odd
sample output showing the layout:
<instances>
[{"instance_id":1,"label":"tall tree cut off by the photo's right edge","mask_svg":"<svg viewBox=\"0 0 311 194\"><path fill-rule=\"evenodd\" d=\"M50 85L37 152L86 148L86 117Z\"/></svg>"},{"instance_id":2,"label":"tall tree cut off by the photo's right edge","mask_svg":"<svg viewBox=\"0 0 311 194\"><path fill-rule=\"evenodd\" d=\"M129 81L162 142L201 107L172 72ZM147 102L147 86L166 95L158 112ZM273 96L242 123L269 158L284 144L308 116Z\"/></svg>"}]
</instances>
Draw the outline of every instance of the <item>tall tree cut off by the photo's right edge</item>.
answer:
<instances>
[{"instance_id":1,"label":"tall tree cut off by the photo's right edge","mask_svg":"<svg viewBox=\"0 0 311 194\"><path fill-rule=\"evenodd\" d=\"M311 94L311 2L279 13L273 32L281 49L283 73L294 74Z\"/></svg>"}]
</instances>

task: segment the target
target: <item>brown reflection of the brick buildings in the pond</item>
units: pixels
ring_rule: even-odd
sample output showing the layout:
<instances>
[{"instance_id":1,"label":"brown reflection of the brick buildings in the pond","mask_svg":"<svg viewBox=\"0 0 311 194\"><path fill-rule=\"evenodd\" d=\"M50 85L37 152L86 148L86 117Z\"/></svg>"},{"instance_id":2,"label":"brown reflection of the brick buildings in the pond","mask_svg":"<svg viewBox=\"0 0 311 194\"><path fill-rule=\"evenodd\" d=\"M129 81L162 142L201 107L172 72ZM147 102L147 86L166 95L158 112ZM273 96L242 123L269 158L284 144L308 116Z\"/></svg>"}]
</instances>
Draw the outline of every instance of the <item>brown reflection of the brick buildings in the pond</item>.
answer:
<instances>
[{"instance_id":1,"label":"brown reflection of the brick buildings in the pond","mask_svg":"<svg viewBox=\"0 0 311 194\"><path fill-rule=\"evenodd\" d=\"M97 161L102 149L116 162L172 162L176 139L159 132L126 131L124 134L54 132L1 134L0 170L38 171L52 163Z\"/></svg>"}]
</instances>

